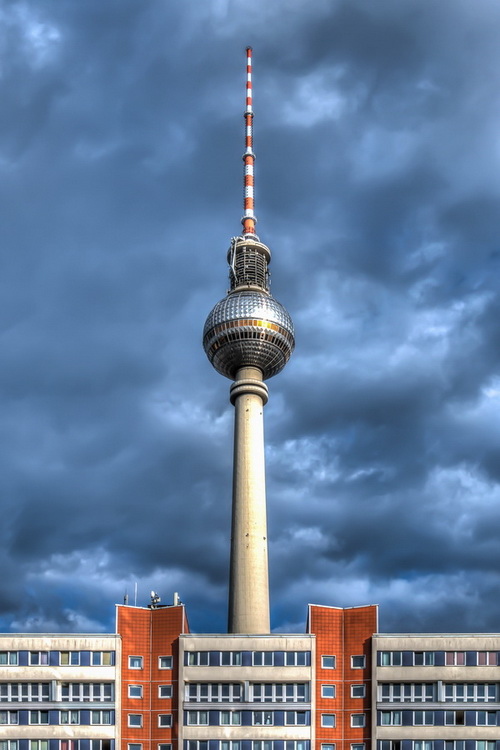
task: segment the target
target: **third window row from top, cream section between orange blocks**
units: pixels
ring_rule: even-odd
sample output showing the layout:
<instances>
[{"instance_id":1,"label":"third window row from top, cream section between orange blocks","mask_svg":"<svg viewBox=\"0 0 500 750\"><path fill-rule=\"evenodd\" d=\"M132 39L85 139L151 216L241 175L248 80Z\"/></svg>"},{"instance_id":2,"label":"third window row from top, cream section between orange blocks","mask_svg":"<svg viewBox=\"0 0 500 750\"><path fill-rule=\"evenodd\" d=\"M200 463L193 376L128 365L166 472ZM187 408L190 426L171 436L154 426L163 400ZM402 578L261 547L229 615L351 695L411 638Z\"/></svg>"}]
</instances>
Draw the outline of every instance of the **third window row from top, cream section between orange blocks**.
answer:
<instances>
[{"instance_id":1,"label":"third window row from top, cream section between orange blocks","mask_svg":"<svg viewBox=\"0 0 500 750\"><path fill-rule=\"evenodd\" d=\"M185 711L187 726L309 726L310 711Z\"/></svg>"}]
</instances>

